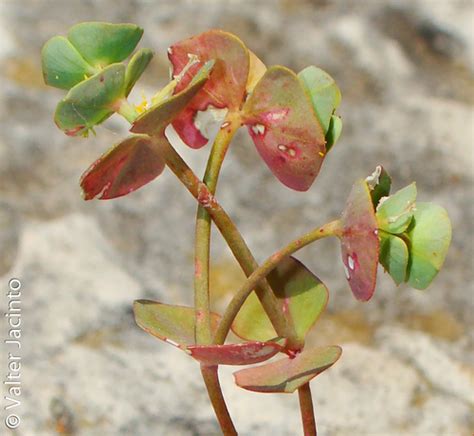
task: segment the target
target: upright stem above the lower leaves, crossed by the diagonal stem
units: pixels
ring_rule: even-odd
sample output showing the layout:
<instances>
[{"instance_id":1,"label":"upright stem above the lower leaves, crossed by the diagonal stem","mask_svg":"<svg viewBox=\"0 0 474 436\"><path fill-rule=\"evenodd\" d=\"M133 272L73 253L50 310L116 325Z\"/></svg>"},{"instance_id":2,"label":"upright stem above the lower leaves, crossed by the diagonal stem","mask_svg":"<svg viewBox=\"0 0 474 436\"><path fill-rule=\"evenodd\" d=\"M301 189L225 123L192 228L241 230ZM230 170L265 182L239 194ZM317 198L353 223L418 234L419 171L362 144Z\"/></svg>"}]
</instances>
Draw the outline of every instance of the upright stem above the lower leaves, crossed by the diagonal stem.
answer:
<instances>
[{"instance_id":1,"label":"upright stem above the lower leaves, crossed by the diagonal stem","mask_svg":"<svg viewBox=\"0 0 474 436\"><path fill-rule=\"evenodd\" d=\"M230 113L216 136L207 162L203 182L214 195L220 169L235 132L240 127L240 117ZM209 259L211 241L211 217L199 204L196 216L196 239L194 244L194 307L196 310L195 339L197 344L212 343Z\"/></svg>"}]
</instances>

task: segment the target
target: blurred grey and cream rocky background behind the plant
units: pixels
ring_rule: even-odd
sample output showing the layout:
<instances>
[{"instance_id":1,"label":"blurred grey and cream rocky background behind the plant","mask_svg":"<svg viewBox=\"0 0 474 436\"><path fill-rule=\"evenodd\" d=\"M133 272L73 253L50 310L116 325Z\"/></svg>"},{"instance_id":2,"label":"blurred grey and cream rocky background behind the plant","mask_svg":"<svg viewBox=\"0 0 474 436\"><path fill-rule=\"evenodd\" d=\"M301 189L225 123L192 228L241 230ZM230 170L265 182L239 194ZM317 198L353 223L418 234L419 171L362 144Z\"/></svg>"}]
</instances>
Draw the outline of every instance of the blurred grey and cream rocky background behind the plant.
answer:
<instances>
[{"instance_id":1,"label":"blurred grey and cream rocky background behind the plant","mask_svg":"<svg viewBox=\"0 0 474 436\"><path fill-rule=\"evenodd\" d=\"M169 45L214 27L267 65L315 64L336 79L344 130L313 187L283 187L242 131L218 198L260 261L338 217L353 181L377 164L394 190L416 180L419 201L443 205L453 241L426 291L397 288L380 270L374 298L359 303L337 241L298 253L331 291L310 341L344 349L313 397L321 435L471 435L474 4L456 0L1 0L0 310L8 280L23 284L15 434L219 434L198 365L139 330L131 312L137 298L192 304L193 199L166 171L127 197L84 202L81 173L125 126L113 118L86 140L52 120L64 93L43 85L41 46L86 20L145 29L141 46L156 57L136 100L167 82ZM202 174L209 147L176 147ZM243 277L219 234L213 242L219 309ZM221 378L240 434L299 434L296 396L239 390L232 371Z\"/></svg>"}]
</instances>

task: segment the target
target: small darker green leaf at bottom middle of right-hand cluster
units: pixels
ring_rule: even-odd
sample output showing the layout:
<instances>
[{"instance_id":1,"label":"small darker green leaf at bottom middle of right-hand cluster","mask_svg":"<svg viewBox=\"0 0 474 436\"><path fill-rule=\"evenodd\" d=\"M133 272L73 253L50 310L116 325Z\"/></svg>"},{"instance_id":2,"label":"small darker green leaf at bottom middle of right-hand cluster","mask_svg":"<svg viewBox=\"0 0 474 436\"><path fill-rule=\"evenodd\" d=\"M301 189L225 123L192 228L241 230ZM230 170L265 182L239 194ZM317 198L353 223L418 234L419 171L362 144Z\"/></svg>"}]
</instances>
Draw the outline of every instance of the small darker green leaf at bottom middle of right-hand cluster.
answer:
<instances>
[{"instance_id":1,"label":"small darker green leaf at bottom middle of right-hand cluster","mask_svg":"<svg viewBox=\"0 0 474 436\"><path fill-rule=\"evenodd\" d=\"M396 235L380 232L380 263L393 281L399 285L407 275L408 247L405 241Z\"/></svg>"}]
</instances>

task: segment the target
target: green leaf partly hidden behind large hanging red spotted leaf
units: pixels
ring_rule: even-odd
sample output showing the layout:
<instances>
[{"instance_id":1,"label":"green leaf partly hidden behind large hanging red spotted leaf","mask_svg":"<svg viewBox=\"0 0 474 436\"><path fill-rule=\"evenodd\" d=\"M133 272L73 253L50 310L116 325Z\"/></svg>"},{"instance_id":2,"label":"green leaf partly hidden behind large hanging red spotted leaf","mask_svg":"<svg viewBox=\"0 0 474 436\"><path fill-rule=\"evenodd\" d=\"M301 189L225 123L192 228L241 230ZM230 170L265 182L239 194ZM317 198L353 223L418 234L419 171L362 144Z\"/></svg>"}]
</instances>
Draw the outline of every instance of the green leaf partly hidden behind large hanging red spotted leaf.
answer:
<instances>
[{"instance_id":1,"label":"green leaf partly hidden behind large hanging red spotted leaf","mask_svg":"<svg viewBox=\"0 0 474 436\"><path fill-rule=\"evenodd\" d=\"M314 66L300 71L298 78L310 95L313 108L326 134L331 116L341 102L341 91L328 73Z\"/></svg>"}]
</instances>

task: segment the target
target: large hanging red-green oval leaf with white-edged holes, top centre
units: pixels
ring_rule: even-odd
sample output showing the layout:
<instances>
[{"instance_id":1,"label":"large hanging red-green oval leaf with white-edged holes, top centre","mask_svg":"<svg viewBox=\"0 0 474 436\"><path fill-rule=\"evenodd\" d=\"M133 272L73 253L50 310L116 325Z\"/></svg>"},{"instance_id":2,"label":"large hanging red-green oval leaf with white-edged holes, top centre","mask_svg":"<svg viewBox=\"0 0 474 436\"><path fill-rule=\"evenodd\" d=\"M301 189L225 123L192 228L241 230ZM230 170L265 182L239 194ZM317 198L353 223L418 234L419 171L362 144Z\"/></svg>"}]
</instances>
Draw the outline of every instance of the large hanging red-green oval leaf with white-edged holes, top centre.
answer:
<instances>
[{"instance_id":1,"label":"large hanging red-green oval leaf with white-edged holes, top centre","mask_svg":"<svg viewBox=\"0 0 474 436\"><path fill-rule=\"evenodd\" d=\"M322 127L296 74L281 66L269 68L245 103L244 122L273 174L289 188L308 190L326 148Z\"/></svg>"}]
</instances>

